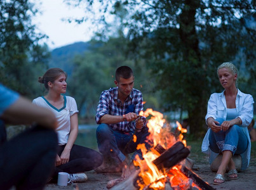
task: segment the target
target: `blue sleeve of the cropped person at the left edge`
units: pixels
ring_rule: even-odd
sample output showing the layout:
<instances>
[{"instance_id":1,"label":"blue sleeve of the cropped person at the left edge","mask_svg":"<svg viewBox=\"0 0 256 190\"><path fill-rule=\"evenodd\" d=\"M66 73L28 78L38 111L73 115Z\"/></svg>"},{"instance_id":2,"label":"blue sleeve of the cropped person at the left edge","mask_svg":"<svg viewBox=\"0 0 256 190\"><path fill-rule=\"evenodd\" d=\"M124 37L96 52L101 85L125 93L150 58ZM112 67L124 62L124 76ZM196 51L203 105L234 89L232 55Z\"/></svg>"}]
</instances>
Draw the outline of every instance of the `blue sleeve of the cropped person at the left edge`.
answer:
<instances>
[{"instance_id":1,"label":"blue sleeve of the cropped person at the left edge","mask_svg":"<svg viewBox=\"0 0 256 190\"><path fill-rule=\"evenodd\" d=\"M0 84L0 115L3 114L4 110L15 103L19 97L20 95L17 92L11 91Z\"/></svg>"}]
</instances>

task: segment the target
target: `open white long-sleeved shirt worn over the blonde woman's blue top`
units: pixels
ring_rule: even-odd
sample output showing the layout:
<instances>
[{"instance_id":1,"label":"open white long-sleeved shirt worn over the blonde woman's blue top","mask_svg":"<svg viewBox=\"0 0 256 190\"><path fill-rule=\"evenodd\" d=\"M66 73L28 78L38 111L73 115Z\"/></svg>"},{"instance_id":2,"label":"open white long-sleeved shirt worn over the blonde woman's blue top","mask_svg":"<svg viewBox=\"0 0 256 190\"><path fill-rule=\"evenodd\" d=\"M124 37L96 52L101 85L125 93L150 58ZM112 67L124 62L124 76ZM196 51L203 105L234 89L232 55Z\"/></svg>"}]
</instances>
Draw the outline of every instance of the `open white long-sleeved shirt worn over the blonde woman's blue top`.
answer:
<instances>
[{"instance_id":1,"label":"open white long-sleeved shirt worn over the blonde woman's blue top","mask_svg":"<svg viewBox=\"0 0 256 190\"><path fill-rule=\"evenodd\" d=\"M226 120L227 118L227 103L225 98L225 91L222 93L213 93L210 96L210 99L208 101L208 108L207 108L207 114L205 116L205 120L207 118L212 117L214 119L216 118L223 118ZM250 153L251 153L251 141L250 136L248 132L248 125L252 122L253 118L253 98L250 94L245 94L238 89L238 94L236 96L236 111L238 112L238 117L241 118L242 124L240 127L243 128L243 132L245 132L245 135L248 140L248 147L245 151L245 153L241 154L242 158L242 167L241 170L245 170L246 167L248 167L250 162ZM210 163L213 162L213 160L218 155L217 153L214 153L209 148L209 133L210 129L206 132L205 138L203 139L203 144L201 147L201 150L203 153L208 153L210 155Z\"/></svg>"}]
</instances>

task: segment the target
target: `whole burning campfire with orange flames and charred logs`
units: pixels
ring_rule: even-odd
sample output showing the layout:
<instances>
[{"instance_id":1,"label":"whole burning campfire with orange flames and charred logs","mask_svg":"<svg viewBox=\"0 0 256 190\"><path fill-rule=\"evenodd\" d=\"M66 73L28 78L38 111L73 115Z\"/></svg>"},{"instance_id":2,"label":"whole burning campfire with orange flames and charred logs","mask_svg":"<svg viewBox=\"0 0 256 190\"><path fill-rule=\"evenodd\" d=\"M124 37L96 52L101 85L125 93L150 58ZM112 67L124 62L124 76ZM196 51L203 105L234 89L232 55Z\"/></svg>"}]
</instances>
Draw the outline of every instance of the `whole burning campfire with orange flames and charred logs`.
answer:
<instances>
[{"instance_id":1,"label":"whole burning campfire with orange flames and charred logs","mask_svg":"<svg viewBox=\"0 0 256 190\"><path fill-rule=\"evenodd\" d=\"M145 144L138 144L137 149L141 149L144 159L137 156L133 163L139 169L128 178L117 181L112 189L213 189L185 167L184 160L190 151L182 134L187 130L177 122L179 136L175 136L171 126L165 124L163 114L152 109L141 111L140 116L151 116L147 122L148 141L154 145L147 150Z\"/></svg>"}]
</instances>

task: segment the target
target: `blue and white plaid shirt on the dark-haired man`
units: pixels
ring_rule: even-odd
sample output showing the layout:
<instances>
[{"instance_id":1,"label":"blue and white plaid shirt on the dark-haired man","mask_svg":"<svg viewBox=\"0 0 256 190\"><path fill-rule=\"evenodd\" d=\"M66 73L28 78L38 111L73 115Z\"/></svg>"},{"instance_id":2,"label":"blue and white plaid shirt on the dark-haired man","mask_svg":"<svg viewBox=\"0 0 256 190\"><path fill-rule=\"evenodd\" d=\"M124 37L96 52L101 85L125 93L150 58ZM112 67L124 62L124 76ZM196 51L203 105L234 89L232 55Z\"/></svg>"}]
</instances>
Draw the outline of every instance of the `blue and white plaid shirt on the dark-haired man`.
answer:
<instances>
[{"instance_id":1,"label":"blue and white plaid shirt on the dark-haired man","mask_svg":"<svg viewBox=\"0 0 256 190\"><path fill-rule=\"evenodd\" d=\"M137 89L131 91L130 96L125 100L122 105L120 99L118 99L118 87L110 88L109 90L103 91L100 95L100 101L98 102L96 122L100 124L100 118L105 114L109 115L125 115L126 113L140 113L143 110L142 104L142 92ZM135 130L135 121L133 122L119 122L117 124L109 124L114 130L123 132L130 132Z\"/></svg>"}]
</instances>

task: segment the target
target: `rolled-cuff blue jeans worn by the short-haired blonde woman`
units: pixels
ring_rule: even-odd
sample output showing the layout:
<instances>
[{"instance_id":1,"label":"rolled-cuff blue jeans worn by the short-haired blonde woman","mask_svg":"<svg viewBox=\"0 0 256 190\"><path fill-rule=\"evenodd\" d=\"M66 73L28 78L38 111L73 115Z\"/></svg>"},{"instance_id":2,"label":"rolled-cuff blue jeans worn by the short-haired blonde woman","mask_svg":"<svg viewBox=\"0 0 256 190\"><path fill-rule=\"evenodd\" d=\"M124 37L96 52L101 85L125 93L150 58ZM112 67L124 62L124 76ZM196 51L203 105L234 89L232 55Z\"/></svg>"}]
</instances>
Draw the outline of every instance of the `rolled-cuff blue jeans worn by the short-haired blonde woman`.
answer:
<instances>
[{"instance_id":1,"label":"rolled-cuff blue jeans worn by the short-haired blonde woman","mask_svg":"<svg viewBox=\"0 0 256 190\"><path fill-rule=\"evenodd\" d=\"M216 119L220 125L224 122L224 119ZM210 130L209 134L210 149L215 153L222 151L231 151L232 154L240 155L246 151L248 141L245 133L238 125L229 127L229 130L219 132L213 132Z\"/></svg>"}]
</instances>

